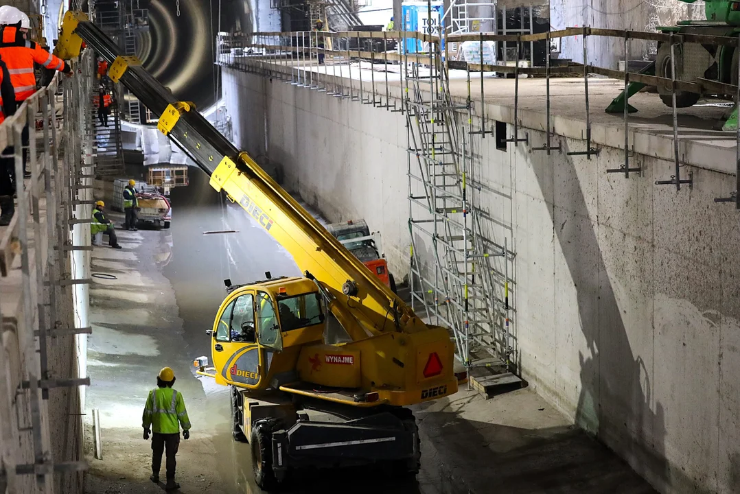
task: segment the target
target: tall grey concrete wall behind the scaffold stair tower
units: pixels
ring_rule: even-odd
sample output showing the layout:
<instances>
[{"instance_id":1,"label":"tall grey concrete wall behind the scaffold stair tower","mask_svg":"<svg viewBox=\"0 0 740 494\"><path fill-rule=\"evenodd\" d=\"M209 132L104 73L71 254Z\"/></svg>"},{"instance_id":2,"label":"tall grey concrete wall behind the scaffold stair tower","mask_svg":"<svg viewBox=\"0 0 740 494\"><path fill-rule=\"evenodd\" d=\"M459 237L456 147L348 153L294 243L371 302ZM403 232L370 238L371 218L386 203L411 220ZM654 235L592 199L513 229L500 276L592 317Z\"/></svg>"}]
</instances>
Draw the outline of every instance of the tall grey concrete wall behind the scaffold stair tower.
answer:
<instances>
[{"instance_id":1,"label":"tall grey concrete wall behind the scaffold stair tower","mask_svg":"<svg viewBox=\"0 0 740 494\"><path fill-rule=\"evenodd\" d=\"M365 217L391 269L408 273L405 117L229 69L223 81L241 115L235 143L283 163L286 188L329 220ZM477 200L517 254L522 376L661 492L739 492L740 217L713 203L734 177L693 169L693 189L677 193L653 185L670 176L665 160L607 175L618 149L548 158L488 139L480 152Z\"/></svg>"}]
</instances>

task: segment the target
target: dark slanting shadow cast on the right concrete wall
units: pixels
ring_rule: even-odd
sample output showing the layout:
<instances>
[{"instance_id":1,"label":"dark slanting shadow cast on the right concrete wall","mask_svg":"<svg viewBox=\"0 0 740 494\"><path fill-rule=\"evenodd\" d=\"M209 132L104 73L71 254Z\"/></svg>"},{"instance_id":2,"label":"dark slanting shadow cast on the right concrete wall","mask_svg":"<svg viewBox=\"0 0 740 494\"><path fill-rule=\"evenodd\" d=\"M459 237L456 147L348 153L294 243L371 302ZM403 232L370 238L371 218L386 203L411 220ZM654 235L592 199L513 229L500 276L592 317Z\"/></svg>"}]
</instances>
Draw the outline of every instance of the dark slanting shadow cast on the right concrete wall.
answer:
<instances>
[{"instance_id":1,"label":"dark slanting shadow cast on the right concrete wall","mask_svg":"<svg viewBox=\"0 0 740 494\"><path fill-rule=\"evenodd\" d=\"M563 144L565 157L569 149L567 141ZM665 460L664 410L660 403L653 404L650 373L642 357L634 356L630 347L574 160L585 158L559 160L557 180L548 169L552 163L530 159L528 165L534 169L545 197L549 189L556 187L554 183L576 184L568 187L568 194L553 196L565 197L567 203L556 203L554 207L548 204L556 238L576 289L579 328L590 353L579 351L581 392L576 424L596 434L630 461L651 484L662 489L670 485ZM557 286L554 289L559 291Z\"/></svg>"}]
</instances>

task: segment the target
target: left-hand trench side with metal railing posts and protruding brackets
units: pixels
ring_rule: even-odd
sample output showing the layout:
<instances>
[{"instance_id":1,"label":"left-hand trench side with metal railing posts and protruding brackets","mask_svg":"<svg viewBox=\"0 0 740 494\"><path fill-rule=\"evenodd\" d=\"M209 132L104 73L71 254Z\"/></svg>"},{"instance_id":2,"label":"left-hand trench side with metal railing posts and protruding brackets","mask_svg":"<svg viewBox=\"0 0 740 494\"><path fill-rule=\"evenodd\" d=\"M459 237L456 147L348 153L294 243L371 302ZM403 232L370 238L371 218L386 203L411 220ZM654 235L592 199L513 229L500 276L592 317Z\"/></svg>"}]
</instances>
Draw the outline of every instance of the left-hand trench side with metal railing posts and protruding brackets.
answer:
<instances>
[{"instance_id":1,"label":"left-hand trench side with metal railing posts and protruding brackets","mask_svg":"<svg viewBox=\"0 0 740 494\"><path fill-rule=\"evenodd\" d=\"M16 212L0 227L0 320L7 358L0 361L0 444L11 493L53 493L55 476L74 476L87 468L82 457L82 428L73 361L78 334L75 306L85 311L80 291L90 280L92 211L92 109L95 70L92 52L84 53L75 75L57 75L0 124L0 149L14 146ZM27 169L21 133L30 126ZM70 359L67 368L50 362ZM60 389L61 388L61 389ZM51 407L52 393L72 393L74 410ZM64 448L53 442L64 441ZM54 458L62 449L65 458Z\"/></svg>"}]
</instances>

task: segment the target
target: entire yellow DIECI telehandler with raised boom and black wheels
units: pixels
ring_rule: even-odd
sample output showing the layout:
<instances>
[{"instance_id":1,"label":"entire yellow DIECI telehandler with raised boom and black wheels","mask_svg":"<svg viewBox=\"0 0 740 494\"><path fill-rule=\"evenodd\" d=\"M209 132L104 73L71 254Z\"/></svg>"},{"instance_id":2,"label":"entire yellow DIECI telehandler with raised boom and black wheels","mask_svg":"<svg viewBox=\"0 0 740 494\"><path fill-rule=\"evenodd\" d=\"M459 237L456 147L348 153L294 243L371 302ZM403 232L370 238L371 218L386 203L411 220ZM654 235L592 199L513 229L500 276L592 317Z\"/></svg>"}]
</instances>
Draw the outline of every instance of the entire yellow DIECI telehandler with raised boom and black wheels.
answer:
<instances>
[{"instance_id":1,"label":"entire yellow DIECI telehandler with raised boom and black wheels","mask_svg":"<svg viewBox=\"0 0 740 494\"><path fill-rule=\"evenodd\" d=\"M67 12L55 52L82 42L109 76L157 115L158 129L286 248L304 277L232 285L215 317L212 363L198 373L232 389L233 435L248 439L255 478L269 488L297 467L383 463L419 470L417 424L406 408L457 392L445 328L425 324L246 152L191 103L177 101L84 13ZM332 343L332 344L330 344Z\"/></svg>"}]
</instances>

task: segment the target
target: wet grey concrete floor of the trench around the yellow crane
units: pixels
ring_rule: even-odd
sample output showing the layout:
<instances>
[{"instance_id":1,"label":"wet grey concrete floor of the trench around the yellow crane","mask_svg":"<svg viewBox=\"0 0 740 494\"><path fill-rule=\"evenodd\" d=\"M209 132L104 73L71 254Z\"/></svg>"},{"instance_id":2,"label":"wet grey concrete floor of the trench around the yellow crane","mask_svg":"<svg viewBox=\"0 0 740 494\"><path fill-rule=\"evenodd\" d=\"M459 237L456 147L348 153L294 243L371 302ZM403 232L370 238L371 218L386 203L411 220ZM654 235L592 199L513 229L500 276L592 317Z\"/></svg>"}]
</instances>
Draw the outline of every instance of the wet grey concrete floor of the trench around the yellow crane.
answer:
<instances>
[{"instance_id":1,"label":"wet grey concrete floor of the trench around the yellow crane","mask_svg":"<svg viewBox=\"0 0 740 494\"><path fill-rule=\"evenodd\" d=\"M205 331L223 297L223 280L249 282L299 274L289 254L242 210L221 204L204 175L175 189L170 230L121 232L124 249L96 248L87 391L89 494L159 493L149 479L141 411L164 365L175 370L192 436L181 441L181 493L255 494L249 445L232 441L229 394L196 376L192 359L210 356ZM230 234L204 231L238 230ZM90 411L101 410L103 459L92 458ZM302 472L285 493L652 493L605 447L574 429L531 390L492 400L460 391L417 407L423 470L397 484L371 467ZM162 471L164 478L164 466Z\"/></svg>"}]
</instances>

